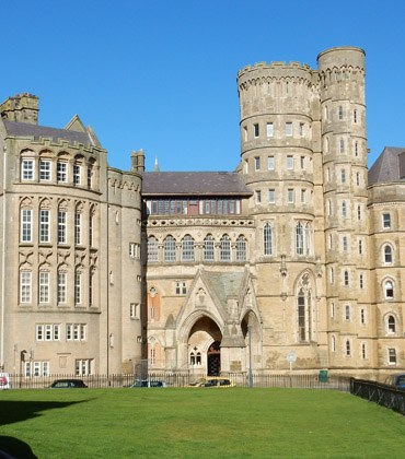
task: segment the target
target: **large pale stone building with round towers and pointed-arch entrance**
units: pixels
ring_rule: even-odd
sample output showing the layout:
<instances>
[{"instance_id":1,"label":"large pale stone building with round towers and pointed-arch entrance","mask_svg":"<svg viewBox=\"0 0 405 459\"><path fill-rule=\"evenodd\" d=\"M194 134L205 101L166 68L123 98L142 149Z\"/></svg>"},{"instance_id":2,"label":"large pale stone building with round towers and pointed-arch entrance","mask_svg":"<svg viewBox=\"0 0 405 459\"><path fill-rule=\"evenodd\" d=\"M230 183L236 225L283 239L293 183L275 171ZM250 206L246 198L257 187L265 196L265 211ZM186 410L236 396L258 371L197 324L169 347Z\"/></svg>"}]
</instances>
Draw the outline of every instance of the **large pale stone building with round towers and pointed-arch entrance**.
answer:
<instances>
[{"instance_id":1,"label":"large pale stone building with round towers and pointed-arch entrance","mask_svg":"<svg viewBox=\"0 0 405 459\"><path fill-rule=\"evenodd\" d=\"M45 128L37 97L5 101L2 367L404 370L405 149L368 172L364 52L317 63L238 73L233 173L144 172L142 151L113 169L78 117Z\"/></svg>"}]
</instances>

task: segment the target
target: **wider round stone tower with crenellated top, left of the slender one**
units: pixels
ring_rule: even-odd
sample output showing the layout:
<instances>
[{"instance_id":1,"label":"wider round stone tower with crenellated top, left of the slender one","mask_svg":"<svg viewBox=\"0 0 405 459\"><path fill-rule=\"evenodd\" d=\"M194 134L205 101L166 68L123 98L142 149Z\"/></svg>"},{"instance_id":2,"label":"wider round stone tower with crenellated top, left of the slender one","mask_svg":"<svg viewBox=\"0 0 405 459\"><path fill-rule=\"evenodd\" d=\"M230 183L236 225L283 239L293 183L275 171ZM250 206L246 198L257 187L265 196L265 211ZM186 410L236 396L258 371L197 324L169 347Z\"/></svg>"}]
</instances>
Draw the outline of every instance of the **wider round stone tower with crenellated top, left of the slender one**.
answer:
<instances>
[{"instance_id":1,"label":"wider round stone tower with crenellated top, left of the slender one","mask_svg":"<svg viewBox=\"0 0 405 459\"><path fill-rule=\"evenodd\" d=\"M311 346L317 340L317 306L311 299L320 294L314 275L314 177L320 175L314 157L321 154L316 85L317 72L299 62L259 62L238 73L240 170L254 193L250 213L256 221L256 242L251 259L264 332L274 337L267 338L269 348L264 349L269 367L286 362L285 349L273 361L276 342ZM298 292L302 292L300 307ZM297 350L305 352L308 365L319 362L315 345L311 351Z\"/></svg>"}]
</instances>

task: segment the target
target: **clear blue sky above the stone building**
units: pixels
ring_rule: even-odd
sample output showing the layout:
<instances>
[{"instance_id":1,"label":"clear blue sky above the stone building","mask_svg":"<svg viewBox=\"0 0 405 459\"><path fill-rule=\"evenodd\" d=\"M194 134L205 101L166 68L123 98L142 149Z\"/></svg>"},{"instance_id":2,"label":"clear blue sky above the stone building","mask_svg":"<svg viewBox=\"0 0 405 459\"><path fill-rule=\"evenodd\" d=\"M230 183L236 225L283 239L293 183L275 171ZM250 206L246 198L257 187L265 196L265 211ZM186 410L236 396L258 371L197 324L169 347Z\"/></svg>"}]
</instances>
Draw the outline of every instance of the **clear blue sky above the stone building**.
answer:
<instances>
[{"instance_id":1,"label":"clear blue sky above the stone building","mask_svg":"<svg viewBox=\"0 0 405 459\"><path fill-rule=\"evenodd\" d=\"M405 146L405 1L21 0L2 5L1 95L39 96L39 123L76 114L129 169L233 170L236 73L335 46L366 50L369 165Z\"/></svg>"}]
</instances>

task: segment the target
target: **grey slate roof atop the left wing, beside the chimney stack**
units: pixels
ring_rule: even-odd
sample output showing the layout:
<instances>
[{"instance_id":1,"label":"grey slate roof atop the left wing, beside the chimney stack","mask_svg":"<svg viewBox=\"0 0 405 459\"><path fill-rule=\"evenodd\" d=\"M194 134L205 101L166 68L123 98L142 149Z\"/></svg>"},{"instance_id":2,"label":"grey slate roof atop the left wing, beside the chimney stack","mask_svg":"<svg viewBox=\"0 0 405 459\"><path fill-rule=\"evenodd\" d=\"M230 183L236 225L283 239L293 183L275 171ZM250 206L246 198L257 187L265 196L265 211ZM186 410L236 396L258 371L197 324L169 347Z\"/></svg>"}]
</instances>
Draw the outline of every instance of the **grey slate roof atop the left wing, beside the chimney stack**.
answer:
<instances>
[{"instance_id":1,"label":"grey slate roof atop the left wing, beside the chimney stack","mask_svg":"<svg viewBox=\"0 0 405 459\"><path fill-rule=\"evenodd\" d=\"M14 137L32 137L34 140L39 138L53 139L54 142L58 140L67 140L70 143L79 142L84 145L95 145L93 139L88 132L78 132L67 129L47 128L45 126L28 125L25 122L9 121L3 119L7 132Z\"/></svg>"}]
</instances>

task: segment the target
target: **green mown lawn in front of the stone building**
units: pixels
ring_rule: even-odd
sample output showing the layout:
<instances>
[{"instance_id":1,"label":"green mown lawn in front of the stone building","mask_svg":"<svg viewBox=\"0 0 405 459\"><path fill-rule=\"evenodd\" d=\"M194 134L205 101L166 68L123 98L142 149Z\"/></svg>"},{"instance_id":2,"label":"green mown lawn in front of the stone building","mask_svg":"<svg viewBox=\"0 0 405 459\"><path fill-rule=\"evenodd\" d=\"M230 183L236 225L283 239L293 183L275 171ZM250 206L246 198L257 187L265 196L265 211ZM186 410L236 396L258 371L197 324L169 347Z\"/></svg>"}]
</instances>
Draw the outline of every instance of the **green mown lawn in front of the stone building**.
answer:
<instances>
[{"instance_id":1,"label":"green mown lawn in front of the stone building","mask_svg":"<svg viewBox=\"0 0 405 459\"><path fill-rule=\"evenodd\" d=\"M337 391L0 391L0 448L21 459L403 459L404 445L404 416Z\"/></svg>"}]
</instances>

